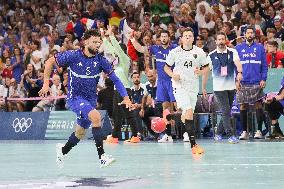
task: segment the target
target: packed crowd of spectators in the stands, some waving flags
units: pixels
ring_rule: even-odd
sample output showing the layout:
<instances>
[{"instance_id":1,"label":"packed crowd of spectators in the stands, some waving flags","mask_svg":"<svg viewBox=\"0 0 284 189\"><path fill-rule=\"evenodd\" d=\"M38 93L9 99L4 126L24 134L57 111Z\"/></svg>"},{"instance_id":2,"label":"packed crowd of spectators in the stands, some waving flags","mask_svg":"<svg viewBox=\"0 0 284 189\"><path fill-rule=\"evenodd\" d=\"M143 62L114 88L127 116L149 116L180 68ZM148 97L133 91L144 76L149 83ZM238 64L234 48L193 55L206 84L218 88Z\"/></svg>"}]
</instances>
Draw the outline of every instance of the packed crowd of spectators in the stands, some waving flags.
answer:
<instances>
[{"instance_id":1,"label":"packed crowd of spectators in the stands, some waving flags","mask_svg":"<svg viewBox=\"0 0 284 189\"><path fill-rule=\"evenodd\" d=\"M155 73L155 57L141 54L133 46L134 36L143 46L160 44L159 33L167 30L171 43L179 44L184 28L194 30L195 44L209 53L216 48L215 34L223 31L227 45L234 48L243 42L248 25L256 29L255 41L265 46L269 68L284 65L284 2L280 0L1 0L0 1L0 109L1 111L66 110L68 71L54 67L50 78L50 100L8 100L38 97L43 84L45 61L57 52L82 47L84 31L106 30L112 26L117 41L130 58L129 81L133 81L135 103L142 103L141 75ZM119 60L118 60L119 61ZM137 72L138 75L131 74ZM146 77L145 77L146 78ZM156 78L155 78L156 79ZM113 85L104 76L98 78L98 91ZM277 90L277 89L275 89ZM137 93L137 94L136 94ZM99 95L99 105L109 110ZM109 96L111 99L111 95ZM147 101L151 105L151 100ZM139 107L139 105L137 105ZM144 115L138 111L137 115ZM143 116L142 116L143 117Z\"/></svg>"}]
</instances>

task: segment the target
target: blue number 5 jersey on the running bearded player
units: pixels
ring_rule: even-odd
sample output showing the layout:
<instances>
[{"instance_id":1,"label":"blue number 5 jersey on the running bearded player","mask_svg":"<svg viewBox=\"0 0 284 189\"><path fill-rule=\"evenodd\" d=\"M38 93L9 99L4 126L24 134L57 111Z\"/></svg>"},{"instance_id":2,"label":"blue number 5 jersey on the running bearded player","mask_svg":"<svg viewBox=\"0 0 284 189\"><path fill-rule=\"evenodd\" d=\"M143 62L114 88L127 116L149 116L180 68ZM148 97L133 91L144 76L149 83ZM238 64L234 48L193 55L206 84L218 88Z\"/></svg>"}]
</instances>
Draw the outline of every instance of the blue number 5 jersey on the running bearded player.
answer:
<instances>
[{"instance_id":1,"label":"blue number 5 jersey on the running bearded player","mask_svg":"<svg viewBox=\"0 0 284 189\"><path fill-rule=\"evenodd\" d=\"M67 97L82 97L86 100L97 99L97 83L100 73L112 73L111 64L100 54L87 57L81 49L60 52L55 55L59 66L68 67Z\"/></svg>"}]
</instances>

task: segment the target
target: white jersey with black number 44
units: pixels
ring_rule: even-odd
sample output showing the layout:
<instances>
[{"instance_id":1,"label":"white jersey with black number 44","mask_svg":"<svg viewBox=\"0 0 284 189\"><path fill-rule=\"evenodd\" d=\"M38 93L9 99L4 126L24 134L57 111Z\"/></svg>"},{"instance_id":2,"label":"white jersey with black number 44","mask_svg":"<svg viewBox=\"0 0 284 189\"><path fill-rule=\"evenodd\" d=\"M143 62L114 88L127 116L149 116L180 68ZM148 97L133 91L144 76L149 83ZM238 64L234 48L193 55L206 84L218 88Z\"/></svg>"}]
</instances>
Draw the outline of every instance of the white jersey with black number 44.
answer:
<instances>
[{"instance_id":1,"label":"white jersey with black number 44","mask_svg":"<svg viewBox=\"0 0 284 189\"><path fill-rule=\"evenodd\" d=\"M169 66L175 65L173 72L181 78L180 81L172 79L174 88L187 88L190 92L198 93L199 78L194 71L208 64L206 53L201 48L193 45L191 50L184 50L179 46L170 51L166 62Z\"/></svg>"}]
</instances>

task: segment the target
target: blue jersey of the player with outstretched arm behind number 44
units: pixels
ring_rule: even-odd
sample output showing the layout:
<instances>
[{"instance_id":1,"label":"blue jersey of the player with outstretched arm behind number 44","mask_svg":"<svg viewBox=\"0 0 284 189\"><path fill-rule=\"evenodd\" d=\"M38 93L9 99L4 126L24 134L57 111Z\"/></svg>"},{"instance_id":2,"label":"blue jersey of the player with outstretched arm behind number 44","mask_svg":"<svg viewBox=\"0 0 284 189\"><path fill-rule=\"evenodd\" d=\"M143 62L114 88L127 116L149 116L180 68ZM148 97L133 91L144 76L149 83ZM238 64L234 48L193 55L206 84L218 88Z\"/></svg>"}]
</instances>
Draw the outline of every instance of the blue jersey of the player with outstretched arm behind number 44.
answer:
<instances>
[{"instance_id":1,"label":"blue jersey of the player with outstretched arm behind number 44","mask_svg":"<svg viewBox=\"0 0 284 189\"><path fill-rule=\"evenodd\" d=\"M177 45L171 44L168 48L164 49L161 45L152 45L150 47L150 53L155 56L156 69L158 74L158 80L171 80L171 77L164 71L166 65L166 58L169 52L176 48Z\"/></svg>"}]
</instances>

